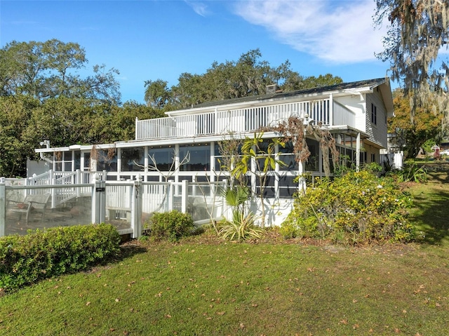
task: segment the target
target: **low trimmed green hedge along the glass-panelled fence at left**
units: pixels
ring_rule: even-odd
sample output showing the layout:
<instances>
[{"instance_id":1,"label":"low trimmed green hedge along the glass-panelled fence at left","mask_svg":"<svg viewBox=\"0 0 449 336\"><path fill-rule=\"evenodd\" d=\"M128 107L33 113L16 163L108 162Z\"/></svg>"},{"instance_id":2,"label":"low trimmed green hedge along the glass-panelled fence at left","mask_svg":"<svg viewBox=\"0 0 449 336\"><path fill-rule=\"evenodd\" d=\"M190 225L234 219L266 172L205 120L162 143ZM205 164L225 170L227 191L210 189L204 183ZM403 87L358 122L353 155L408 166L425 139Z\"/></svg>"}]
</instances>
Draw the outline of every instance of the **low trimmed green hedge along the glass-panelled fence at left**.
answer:
<instances>
[{"instance_id":1,"label":"low trimmed green hedge along the glass-panelled fence at left","mask_svg":"<svg viewBox=\"0 0 449 336\"><path fill-rule=\"evenodd\" d=\"M119 254L112 225L77 225L0 238L0 290L88 269Z\"/></svg>"}]
</instances>

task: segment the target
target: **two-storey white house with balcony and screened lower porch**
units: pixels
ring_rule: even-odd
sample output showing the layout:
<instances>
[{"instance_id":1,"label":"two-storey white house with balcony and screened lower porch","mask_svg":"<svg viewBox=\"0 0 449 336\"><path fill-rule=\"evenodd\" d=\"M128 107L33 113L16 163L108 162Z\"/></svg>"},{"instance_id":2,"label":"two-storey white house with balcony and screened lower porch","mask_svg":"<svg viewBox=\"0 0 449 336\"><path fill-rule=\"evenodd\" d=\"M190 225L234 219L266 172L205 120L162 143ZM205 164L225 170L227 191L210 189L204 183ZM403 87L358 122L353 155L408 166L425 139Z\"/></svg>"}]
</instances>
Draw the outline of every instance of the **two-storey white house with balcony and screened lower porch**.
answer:
<instances>
[{"instance_id":1,"label":"two-storey white house with balcony and screened lower porch","mask_svg":"<svg viewBox=\"0 0 449 336\"><path fill-rule=\"evenodd\" d=\"M136 120L132 141L57 148L43 142L46 148L36 152L55 172L106 170L108 180L118 181L135 180L137 175L145 182L163 182L168 177L175 182L215 181L227 178L220 170L220 141L253 137L262 128L298 116L327 128L335 138L340 157L348 165L360 167L364 163L380 163L380 149L387 148L387 118L393 114L389 79L370 79L207 102L166 112L164 118ZM279 134L267 131L263 137L269 140ZM288 215L291 196L298 187L294 180L302 170L311 176L323 176L319 142L307 135L307 144L311 154L304 166L295 162L291 145L276 148L286 165L277 165L269 173L264 191L273 222ZM182 162L186 157L189 160ZM253 189L259 188L255 178L249 183ZM255 208L258 206L254 204Z\"/></svg>"}]
</instances>

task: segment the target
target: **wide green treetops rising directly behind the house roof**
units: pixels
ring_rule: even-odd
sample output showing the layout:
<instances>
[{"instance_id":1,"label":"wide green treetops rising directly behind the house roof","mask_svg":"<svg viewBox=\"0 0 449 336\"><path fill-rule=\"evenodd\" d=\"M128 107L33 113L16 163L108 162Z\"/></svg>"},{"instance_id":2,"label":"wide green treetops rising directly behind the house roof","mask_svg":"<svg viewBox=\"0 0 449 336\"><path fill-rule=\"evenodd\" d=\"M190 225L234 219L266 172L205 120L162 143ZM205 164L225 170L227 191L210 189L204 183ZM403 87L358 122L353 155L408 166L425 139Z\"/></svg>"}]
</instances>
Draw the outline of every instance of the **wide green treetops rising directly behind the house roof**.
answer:
<instances>
[{"instance_id":1,"label":"wide green treetops rising directly behind the house roof","mask_svg":"<svg viewBox=\"0 0 449 336\"><path fill-rule=\"evenodd\" d=\"M155 108L188 108L203 102L263 95L270 84L281 90L300 90L342 82L331 74L304 78L291 69L288 60L279 67L271 67L261 58L260 50L253 49L237 61L213 62L205 74L181 74L178 84L170 89L161 79L146 81L145 100Z\"/></svg>"}]
</instances>

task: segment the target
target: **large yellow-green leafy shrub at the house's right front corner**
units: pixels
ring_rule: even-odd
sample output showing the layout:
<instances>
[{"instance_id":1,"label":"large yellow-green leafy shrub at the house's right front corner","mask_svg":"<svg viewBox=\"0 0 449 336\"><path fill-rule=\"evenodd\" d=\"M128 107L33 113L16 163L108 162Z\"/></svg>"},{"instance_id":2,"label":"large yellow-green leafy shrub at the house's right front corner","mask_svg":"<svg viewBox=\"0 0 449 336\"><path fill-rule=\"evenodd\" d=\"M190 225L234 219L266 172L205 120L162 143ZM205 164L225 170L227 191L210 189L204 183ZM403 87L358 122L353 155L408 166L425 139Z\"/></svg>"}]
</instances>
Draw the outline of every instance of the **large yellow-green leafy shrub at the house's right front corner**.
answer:
<instances>
[{"instance_id":1,"label":"large yellow-green leafy shrub at the house's right front corner","mask_svg":"<svg viewBox=\"0 0 449 336\"><path fill-rule=\"evenodd\" d=\"M410 241L415 227L407 220L410 195L391 178L368 171L349 172L333 182L316 180L315 187L295 199L281 225L286 236L322 237L346 243Z\"/></svg>"}]
</instances>

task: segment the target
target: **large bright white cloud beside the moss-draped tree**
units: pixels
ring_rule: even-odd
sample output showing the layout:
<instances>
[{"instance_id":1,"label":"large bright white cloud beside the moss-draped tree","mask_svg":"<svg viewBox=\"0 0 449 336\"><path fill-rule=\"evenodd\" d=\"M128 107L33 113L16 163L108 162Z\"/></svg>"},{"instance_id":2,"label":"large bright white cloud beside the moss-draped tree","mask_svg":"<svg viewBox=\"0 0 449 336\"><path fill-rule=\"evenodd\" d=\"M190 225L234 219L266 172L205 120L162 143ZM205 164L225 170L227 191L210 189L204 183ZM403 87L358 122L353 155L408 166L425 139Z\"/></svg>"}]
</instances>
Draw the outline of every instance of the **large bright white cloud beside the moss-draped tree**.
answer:
<instances>
[{"instance_id":1,"label":"large bright white cloud beside the moss-draped tree","mask_svg":"<svg viewBox=\"0 0 449 336\"><path fill-rule=\"evenodd\" d=\"M297 51L333 63L374 60L383 50L373 0L237 1L236 13Z\"/></svg>"}]
</instances>

